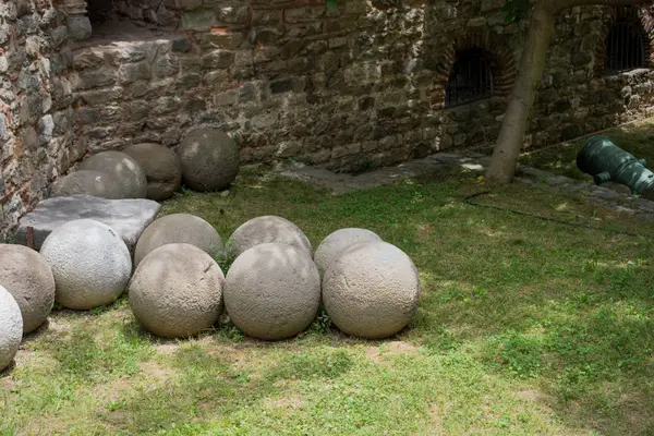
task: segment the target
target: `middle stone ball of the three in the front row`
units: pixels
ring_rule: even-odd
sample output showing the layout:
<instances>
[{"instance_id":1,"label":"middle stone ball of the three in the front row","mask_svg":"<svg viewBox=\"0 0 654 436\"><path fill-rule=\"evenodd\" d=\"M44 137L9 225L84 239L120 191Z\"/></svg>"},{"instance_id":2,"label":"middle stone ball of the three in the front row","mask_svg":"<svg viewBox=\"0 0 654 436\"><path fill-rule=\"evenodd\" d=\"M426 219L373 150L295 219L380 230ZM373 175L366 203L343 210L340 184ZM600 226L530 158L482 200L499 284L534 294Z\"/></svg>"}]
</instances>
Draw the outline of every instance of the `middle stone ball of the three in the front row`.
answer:
<instances>
[{"instance_id":1,"label":"middle stone ball of the three in the front row","mask_svg":"<svg viewBox=\"0 0 654 436\"><path fill-rule=\"evenodd\" d=\"M241 254L230 267L225 308L247 336L280 340L298 335L320 304L318 268L304 252L266 243Z\"/></svg>"}]
</instances>

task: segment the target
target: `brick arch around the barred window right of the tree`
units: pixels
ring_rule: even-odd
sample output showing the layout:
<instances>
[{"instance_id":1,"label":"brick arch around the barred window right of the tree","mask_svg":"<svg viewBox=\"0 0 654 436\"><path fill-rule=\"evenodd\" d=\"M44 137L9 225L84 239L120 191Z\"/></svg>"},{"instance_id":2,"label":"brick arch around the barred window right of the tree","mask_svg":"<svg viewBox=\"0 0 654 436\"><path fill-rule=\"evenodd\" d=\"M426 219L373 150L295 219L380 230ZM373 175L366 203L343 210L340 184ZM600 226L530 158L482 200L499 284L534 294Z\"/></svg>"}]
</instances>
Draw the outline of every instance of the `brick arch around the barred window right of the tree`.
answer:
<instances>
[{"instance_id":1,"label":"brick arch around the barred window right of the tree","mask_svg":"<svg viewBox=\"0 0 654 436\"><path fill-rule=\"evenodd\" d=\"M602 38L595 51L595 76L605 75L606 38L617 22L631 23L640 31L643 38L645 68L654 68L654 10L647 7L615 8L608 21L602 27Z\"/></svg>"}]
</instances>

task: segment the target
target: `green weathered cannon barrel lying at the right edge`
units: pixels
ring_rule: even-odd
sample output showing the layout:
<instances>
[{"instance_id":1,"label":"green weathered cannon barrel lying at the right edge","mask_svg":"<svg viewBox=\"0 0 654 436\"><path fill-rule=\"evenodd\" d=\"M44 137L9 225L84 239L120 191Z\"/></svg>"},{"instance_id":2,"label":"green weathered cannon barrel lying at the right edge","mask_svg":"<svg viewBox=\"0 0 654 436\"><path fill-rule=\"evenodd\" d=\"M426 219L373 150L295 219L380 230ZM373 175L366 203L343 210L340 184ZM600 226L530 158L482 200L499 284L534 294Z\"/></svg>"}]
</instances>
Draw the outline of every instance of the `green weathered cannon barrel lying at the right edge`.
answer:
<instances>
[{"instance_id":1,"label":"green weathered cannon barrel lying at the right edge","mask_svg":"<svg viewBox=\"0 0 654 436\"><path fill-rule=\"evenodd\" d=\"M591 174L595 184L620 183L634 194L654 199L654 172L643 159L637 159L606 136L592 136L584 143L577 155L577 167Z\"/></svg>"}]
</instances>

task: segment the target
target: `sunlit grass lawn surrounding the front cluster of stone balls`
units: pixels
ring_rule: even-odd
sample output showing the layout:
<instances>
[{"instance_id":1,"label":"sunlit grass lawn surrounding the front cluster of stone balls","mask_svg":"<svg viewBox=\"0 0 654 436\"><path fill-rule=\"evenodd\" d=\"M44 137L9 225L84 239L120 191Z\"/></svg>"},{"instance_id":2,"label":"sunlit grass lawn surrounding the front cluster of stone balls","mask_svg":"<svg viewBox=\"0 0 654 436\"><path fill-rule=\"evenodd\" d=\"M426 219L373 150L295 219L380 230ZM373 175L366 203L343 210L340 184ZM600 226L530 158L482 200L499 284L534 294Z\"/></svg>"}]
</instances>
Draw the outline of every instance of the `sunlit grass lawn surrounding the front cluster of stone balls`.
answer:
<instances>
[{"instance_id":1,"label":"sunlit grass lawn surrounding the front cluster of stone balls","mask_svg":"<svg viewBox=\"0 0 654 436\"><path fill-rule=\"evenodd\" d=\"M0 434L654 435L654 241L470 205L488 190L444 171L343 196L244 177L187 194L223 238L281 215L314 243L364 227L421 271L395 338L346 337L320 316L267 343L222 324L189 340L144 332L124 298L56 310L0 375ZM654 225L526 185L475 202L653 235Z\"/></svg>"}]
</instances>

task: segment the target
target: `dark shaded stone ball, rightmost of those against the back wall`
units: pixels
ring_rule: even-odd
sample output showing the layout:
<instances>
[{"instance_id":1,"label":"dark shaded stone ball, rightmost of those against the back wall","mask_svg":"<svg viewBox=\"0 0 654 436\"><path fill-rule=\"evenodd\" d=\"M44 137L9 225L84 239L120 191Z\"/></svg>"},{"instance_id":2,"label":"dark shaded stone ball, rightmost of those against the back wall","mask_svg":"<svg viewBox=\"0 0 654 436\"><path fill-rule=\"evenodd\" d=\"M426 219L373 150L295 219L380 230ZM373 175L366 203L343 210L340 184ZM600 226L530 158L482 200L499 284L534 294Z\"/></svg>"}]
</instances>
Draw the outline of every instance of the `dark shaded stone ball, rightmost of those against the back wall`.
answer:
<instances>
[{"instance_id":1,"label":"dark shaded stone ball, rightmost of those against the back wall","mask_svg":"<svg viewBox=\"0 0 654 436\"><path fill-rule=\"evenodd\" d=\"M178 148L184 184L194 191L222 191L239 173L239 146L218 129L197 129Z\"/></svg>"}]
</instances>

